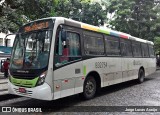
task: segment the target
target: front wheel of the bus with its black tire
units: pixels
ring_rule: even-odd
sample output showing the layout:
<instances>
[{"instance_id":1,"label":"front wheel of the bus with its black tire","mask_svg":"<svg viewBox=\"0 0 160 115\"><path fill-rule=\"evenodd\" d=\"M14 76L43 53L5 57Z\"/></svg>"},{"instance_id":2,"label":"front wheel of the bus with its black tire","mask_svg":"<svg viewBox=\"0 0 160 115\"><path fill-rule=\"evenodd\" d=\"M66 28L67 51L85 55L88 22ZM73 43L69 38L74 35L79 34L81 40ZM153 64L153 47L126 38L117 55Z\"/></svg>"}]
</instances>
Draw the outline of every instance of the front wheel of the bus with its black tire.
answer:
<instances>
[{"instance_id":1,"label":"front wheel of the bus with its black tire","mask_svg":"<svg viewBox=\"0 0 160 115\"><path fill-rule=\"evenodd\" d=\"M88 76L84 81L83 93L81 94L81 97L85 100L93 98L96 94L96 88L97 85L94 77Z\"/></svg>"}]
</instances>

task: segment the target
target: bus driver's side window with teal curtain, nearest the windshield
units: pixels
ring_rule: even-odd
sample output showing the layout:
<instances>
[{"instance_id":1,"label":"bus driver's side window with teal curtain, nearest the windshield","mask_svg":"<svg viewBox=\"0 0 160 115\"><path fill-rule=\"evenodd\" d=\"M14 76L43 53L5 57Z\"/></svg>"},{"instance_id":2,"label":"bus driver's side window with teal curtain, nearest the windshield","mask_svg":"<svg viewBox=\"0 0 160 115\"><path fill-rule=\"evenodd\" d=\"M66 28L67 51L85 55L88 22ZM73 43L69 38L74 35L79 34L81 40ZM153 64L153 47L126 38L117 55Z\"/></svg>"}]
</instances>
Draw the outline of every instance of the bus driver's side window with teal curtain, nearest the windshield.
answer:
<instances>
[{"instance_id":1,"label":"bus driver's side window with teal curtain, nearest the windshield","mask_svg":"<svg viewBox=\"0 0 160 115\"><path fill-rule=\"evenodd\" d=\"M67 31L64 34L61 30L57 33L55 66L61 66L81 58L80 35Z\"/></svg>"}]
</instances>

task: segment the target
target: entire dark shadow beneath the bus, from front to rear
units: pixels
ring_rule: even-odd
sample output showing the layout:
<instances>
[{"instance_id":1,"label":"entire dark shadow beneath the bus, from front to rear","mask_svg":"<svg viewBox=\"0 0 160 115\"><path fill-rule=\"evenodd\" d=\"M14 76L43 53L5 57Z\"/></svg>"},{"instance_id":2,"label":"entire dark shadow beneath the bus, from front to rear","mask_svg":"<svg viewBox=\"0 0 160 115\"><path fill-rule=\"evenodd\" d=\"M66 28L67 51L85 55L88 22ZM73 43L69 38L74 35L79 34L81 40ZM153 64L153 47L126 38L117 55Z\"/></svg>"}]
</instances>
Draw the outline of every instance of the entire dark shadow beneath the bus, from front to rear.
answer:
<instances>
[{"instance_id":1,"label":"entire dark shadow beneath the bus, from front to rear","mask_svg":"<svg viewBox=\"0 0 160 115\"><path fill-rule=\"evenodd\" d=\"M146 78L144 83L152 80L154 78ZM116 91L120 91L125 88L129 88L132 86L140 85L135 80L108 86L101 89L101 92L96 97L101 97ZM47 96L47 95L46 95ZM95 98L96 98L95 97ZM90 100L89 100L90 101ZM29 108L42 108L43 111L46 112L57 112L57 111L68 111L72 110L76 104L83 102L83 100L79 97L79 95L73 95L69 97L65 97L62 99L57 99L53 101L43 101L37 99L30 99L14 102L12 106L14 107L29 107Z\"/></svg>"}]
</instances>

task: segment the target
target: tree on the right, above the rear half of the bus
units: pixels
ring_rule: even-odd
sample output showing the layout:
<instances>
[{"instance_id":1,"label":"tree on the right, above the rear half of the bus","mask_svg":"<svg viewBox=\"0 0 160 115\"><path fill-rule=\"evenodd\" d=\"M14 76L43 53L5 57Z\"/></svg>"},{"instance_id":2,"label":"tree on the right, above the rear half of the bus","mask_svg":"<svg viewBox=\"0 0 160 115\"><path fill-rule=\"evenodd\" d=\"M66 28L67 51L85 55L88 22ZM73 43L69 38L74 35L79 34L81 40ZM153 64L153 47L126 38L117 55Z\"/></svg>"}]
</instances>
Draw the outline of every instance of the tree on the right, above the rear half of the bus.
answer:
<instances>
[{"instance_id":1,"label":"tree on the right, above the rear half of the bus","mask_svg":"<svg viewBox=\"0 0 160 115\"><path fill-rule=\"evenodd\" d=\"M110 13L115 13L110 21L112 27L132 36L154 40L157 10L154 0L110 0Z\"/></svg>"}]
</instances>

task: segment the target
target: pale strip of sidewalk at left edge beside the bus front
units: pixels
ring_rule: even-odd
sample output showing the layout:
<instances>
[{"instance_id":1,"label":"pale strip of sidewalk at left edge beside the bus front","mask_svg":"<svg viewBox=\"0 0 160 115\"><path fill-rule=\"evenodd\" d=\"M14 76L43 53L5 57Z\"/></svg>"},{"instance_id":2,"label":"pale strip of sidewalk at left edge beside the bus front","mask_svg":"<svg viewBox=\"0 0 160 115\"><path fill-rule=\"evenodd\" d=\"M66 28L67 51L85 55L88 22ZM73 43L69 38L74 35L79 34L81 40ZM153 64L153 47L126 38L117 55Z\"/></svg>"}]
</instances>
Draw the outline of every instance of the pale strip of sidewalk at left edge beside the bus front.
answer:
<instances>
[{"instance_id":1,"label":"pale strip of sidewalk at left edge beside the bus front","mask_svg":"<svg viewBox=\"0 0 160 115\"><path fill-rule=\"evenodd\" d=\"M8 79L4 78L3 73L0 72L0 95L8 94Z\"/></svg>"}]
</instances>

